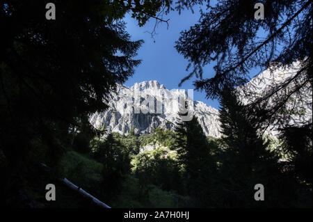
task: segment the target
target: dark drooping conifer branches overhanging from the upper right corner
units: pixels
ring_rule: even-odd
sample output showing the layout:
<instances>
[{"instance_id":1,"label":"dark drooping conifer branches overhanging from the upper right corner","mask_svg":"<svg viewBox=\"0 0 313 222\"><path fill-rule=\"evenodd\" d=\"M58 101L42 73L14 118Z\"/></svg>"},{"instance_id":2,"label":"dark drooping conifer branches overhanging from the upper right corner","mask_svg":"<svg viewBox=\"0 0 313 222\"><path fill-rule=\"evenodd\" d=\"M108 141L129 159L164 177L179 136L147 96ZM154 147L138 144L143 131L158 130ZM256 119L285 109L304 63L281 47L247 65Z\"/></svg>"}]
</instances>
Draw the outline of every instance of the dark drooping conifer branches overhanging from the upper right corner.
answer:
<instances>
[{"instance_id":1,"label":"dark drooping conifer branches overhanging from the upper right corner","mask_svg":"<svg viewBox=\"0 0 313 222\"><path fill-rule=\"evenodd\" d=\"M224 86L246 84L253 68L273 71L298 61L293 75L268 88L249 107L264 125L275 121L282 125L289 123L295 111L288 110L287 104L303 101L303 95L312 92L312 1L262 1L264 20L254 17L257 2L229 0L208 5L198 24L181 33L176 49L188 59L187 70L192 70L180 84L198 77L195 88L216 98ZM207 78L202 67L209 64L215 66L214 73L205 74L212 76Z\"/></svg>"}]
</instances>

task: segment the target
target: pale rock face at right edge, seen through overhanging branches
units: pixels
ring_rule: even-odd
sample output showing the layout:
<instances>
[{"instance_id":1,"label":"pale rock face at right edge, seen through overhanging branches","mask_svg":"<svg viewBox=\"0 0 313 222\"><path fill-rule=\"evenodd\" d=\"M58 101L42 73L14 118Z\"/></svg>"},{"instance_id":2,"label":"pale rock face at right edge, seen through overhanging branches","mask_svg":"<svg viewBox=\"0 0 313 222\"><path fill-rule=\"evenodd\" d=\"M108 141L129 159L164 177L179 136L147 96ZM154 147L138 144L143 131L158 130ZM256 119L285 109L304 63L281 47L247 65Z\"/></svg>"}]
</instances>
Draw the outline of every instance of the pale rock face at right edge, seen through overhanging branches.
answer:
<instances>
[{"instance_id":1,"label":"pale rock face at right edge, seen through overhanging branches","mask_svg":"<svg viewBox=\"0 0 313 222\"><path fill-rule=\"evenodd\" d=\"M278 114L284 122L273 122L268 126L267 134L276 136L279 125L300 126L307 122L312 122L312 83L305 82L303 75L298 75L301 63L295 61L289 67L276 69L269 68L251 79L246 85L236 88L239 98L243 104L251 104L259 98L264 98L268 93L273 92L280 84L288 83L288 88L280 88L273 95L262 103L267 109L273 109L277 101L286 98L287 93L294 88L302 86L297 93L291 94L284 106L284 113ZM287 117L287 118L286 118Z\"/></svg>"}]
</instances>

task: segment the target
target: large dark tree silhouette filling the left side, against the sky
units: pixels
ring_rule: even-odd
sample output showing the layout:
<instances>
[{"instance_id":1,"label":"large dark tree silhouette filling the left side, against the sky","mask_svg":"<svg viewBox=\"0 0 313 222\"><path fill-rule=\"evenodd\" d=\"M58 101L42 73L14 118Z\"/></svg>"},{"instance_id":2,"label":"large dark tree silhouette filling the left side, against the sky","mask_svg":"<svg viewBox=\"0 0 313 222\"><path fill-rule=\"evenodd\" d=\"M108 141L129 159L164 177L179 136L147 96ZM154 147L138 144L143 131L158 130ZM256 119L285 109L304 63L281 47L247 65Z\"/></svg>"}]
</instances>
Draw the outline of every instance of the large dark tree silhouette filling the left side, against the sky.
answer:
<instances>
[{"instance_id":1,"label":"large dark tree silhouette filling the left side, against the sky","mask_svg":"<svg viewBox=\"0 0 313 222\"><path fill-rule=\"evenodd\" d=\"M143 24L165 1L136 1L131 8L124 1L54 1L55 20L46 19L46 3L0 3L4 201L30 165L55 168L73 132L97 132L88 115L106 109L107 96L140 63L134 56L143 41L130 40L122 17L133 11Z\"/></svg>"}]
</instances>

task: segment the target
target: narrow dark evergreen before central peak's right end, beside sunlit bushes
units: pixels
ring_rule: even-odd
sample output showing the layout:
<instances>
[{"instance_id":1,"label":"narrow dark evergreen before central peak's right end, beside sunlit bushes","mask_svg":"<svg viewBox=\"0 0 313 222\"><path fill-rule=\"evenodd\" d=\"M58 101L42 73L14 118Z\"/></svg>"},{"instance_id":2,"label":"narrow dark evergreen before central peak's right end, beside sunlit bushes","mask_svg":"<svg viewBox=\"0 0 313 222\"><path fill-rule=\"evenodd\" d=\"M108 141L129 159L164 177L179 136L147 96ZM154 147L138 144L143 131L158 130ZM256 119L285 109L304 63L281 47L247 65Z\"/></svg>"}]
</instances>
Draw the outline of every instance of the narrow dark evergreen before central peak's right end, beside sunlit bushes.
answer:
<instances>
[{"instance_id":1,"label":"narrow dark evergreen before central peak's right end, beside sunlit bushes","mask_svg":"<svg viewBox=\"0 0 313 222\"><path fill-rule=\"evenodd\" d=\"M176 132L177 159L183 168L186 193L195 198L192 205L208 207L211 204L211 176L216 166L207 138L195 116L191 121L179 120Z\"/></svg>"}]
</instances>

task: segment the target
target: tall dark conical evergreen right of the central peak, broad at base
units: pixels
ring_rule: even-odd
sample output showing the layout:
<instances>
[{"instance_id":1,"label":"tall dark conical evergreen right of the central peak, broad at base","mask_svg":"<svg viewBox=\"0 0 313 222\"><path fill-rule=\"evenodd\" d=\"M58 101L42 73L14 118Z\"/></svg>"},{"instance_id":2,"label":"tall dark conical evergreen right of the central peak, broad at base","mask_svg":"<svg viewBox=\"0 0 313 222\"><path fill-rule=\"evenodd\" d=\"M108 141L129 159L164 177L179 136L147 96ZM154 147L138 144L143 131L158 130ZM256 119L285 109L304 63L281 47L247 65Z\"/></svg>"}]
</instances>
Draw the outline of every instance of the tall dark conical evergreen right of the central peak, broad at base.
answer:
<instances>
[{"instance_id":1,"label":"tall dark conical evergreen right of the central peak, broad at base","mask_svg":"<svg viewBox=\"0 0 313 222\"><path fill-rule=\"evenodd\" d=\"M236 95L224 90L220 100L223 153L220 166L220 196L223 207L293 206L294 183L278 164L278 155L267 149L257 125ZM266 201L255 201L255 184L265 188Z\"/></svg>"}]
</instances>

